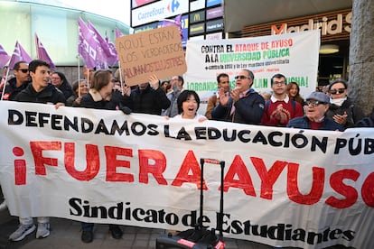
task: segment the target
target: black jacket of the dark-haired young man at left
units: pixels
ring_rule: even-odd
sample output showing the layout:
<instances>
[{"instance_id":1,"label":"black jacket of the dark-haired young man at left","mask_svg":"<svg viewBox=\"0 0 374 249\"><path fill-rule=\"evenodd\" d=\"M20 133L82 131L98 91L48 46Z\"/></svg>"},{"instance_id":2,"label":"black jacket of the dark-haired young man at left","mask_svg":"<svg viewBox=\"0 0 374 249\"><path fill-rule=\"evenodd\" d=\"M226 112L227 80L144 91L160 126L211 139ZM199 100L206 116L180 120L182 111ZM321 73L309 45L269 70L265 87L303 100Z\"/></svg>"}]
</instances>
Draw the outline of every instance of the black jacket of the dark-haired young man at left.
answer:
<instances>
[{"instance_id":1,"label":"black jacket of the dark-haired young man at left","mask_svg":"<svg viewBox=\"0 0 374 249\"><path fill-rule=\"evenodd\" d=\"M20 102L33 102L53 105L57 103L65 103L66 101L61 90L55 88L51 84L48 84L48 86L42 89L41 92L36 92L33 89L33 84L29 84L14 98L14 100Z\"/></svg>"}]
</instances>

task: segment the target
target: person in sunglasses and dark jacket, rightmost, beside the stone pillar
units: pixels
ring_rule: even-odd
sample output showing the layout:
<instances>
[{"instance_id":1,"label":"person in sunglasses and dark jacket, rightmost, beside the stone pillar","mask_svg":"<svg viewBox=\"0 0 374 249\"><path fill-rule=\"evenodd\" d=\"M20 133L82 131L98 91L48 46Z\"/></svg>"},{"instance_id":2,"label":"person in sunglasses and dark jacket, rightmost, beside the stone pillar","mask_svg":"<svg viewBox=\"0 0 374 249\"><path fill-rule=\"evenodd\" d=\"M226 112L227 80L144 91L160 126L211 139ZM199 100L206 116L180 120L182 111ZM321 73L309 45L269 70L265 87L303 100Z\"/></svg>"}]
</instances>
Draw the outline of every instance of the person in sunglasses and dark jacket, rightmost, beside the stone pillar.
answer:
<instances>
[{"instance_id":1,"label":"person in sunglasses and dark jacket, rightmost, beside the stone pillar","mask_svg":"<svg viewBox=\"0 0 374 249\"><path fill-rule=\"evenodd\" d=\"M328 119L347 129L354 127L354 124L364 117L360 107L355 106L348 97L348 83L344 79L336 79L330 84L329 95L330 108L326 114Z\"/></svg>"}]
</instances>

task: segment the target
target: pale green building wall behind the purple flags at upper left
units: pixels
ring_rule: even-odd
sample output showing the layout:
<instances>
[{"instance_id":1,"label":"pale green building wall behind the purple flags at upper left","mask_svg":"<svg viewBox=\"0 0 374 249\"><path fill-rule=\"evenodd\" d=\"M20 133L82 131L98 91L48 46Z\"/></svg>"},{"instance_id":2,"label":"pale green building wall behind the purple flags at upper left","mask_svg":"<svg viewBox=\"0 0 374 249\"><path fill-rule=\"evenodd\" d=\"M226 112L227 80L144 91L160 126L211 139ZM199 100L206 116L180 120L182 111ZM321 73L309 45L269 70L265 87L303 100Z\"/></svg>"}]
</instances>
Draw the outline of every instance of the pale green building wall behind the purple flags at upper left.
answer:
<instances>
[{"instance_id":1,"label":"pale green building wall behind the purple flags at upper left","mask_svg":"<svg viewBox=\"0 0 374 249\"><path fill-rule=\"evenodd\" d=\"M85 22L93 23L103 37L107 32L110 41L116 38L116 28L125 35L131 30L126 24L114 19L50 5L0 1L0 10L0 44L8 54L13 53L15 42L18 41L35 59L34 34L37 33L51 60L58 67L78 65L79 17ZM80 61L80 65L82 62Z\"/></svg>"}]
</instances>

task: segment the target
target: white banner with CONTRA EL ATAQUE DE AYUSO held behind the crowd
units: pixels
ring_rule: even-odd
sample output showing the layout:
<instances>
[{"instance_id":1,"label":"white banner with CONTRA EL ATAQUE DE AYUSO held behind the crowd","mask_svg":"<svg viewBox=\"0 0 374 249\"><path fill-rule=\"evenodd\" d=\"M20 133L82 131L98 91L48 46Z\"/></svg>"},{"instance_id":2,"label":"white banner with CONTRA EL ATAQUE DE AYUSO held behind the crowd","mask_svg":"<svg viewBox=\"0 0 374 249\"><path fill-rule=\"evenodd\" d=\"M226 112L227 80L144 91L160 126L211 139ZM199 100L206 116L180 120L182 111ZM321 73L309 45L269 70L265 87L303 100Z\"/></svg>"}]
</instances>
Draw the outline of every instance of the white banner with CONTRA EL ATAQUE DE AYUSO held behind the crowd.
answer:
<instances>
[{"instance_id":1,"label":"white banner with CONTRA EL ATAQUE DE AYUSO held behind the crowd","mask_svg":"<svg viewBox=\"0 0 374 249\"><path fill-rule=\"evenodd\" d=\"M295 81L306 97L317 85L320 32L291 32L253 38L187 42L188 71L184 88L204 96L217 90L216 78L229 74L231 87L241 69L255 74L252 88L271 89L270 78L285 75L287 82Z\"/></svg>"}]
</instances>

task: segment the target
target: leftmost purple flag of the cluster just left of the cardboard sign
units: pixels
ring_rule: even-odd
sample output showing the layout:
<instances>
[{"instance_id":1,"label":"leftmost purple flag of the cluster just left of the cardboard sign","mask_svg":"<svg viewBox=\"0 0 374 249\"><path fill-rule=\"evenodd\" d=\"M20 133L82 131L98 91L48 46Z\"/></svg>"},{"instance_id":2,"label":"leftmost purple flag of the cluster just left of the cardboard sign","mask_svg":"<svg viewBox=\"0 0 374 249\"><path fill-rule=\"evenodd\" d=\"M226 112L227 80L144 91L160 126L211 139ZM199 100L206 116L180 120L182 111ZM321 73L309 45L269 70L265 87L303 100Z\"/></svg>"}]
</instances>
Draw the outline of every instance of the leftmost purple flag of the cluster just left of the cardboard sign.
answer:
<instances>
[{"instance_id":1,"label":"leftmost purple flag of the cluster just left of the cardboard sign","mask_svg":"<svg viewBox=\"0 0 374 249\"><path fill-rule=\"evenodd\" d=\"M87 68L96 68L97 60L97 43L95 42L93 35L89 32L89 28L86 23L79 18L79 41L78 41L78 53L86 64Z\"/></svg>"}]
</instances>

